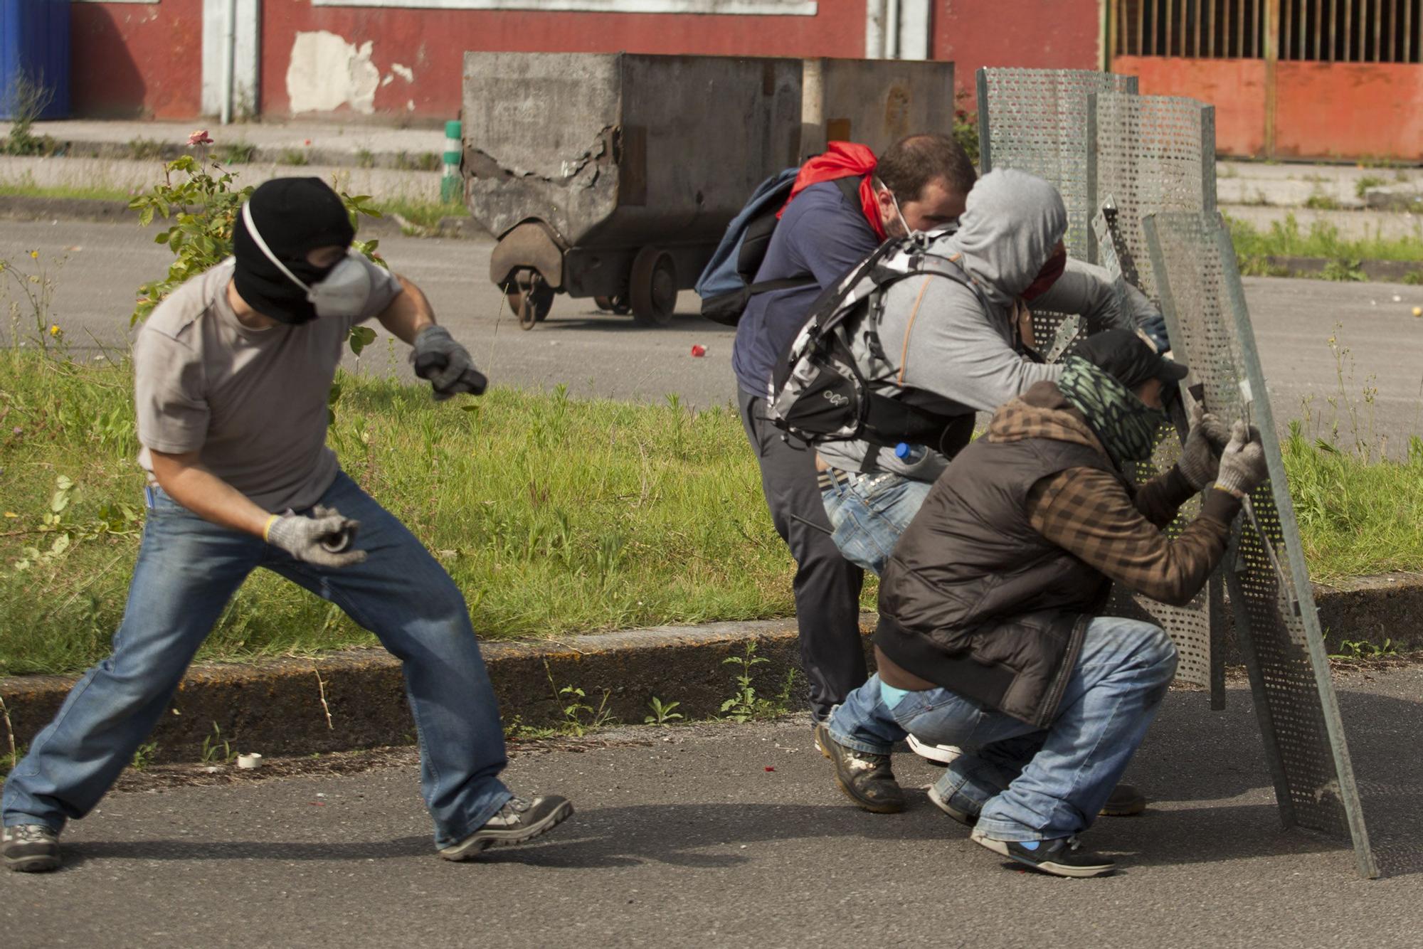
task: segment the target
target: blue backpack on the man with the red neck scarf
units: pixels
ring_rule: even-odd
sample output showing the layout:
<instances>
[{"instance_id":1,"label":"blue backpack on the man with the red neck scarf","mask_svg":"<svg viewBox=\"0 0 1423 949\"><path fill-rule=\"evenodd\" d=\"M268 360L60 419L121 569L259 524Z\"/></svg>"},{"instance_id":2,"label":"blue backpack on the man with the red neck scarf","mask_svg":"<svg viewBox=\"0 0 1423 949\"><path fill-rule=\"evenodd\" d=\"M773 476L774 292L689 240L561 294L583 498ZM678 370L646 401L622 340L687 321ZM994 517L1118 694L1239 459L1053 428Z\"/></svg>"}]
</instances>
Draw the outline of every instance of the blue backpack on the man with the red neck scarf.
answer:
<instances>
[{"instance_id":1,"label":"blue backpack on the man with the red neck scarf","mask_svg":"<svg viewBox=\"0 0 1423 949\"><path fill-rule=\"evenodd\" d=\"M771 175L751 192L750 199L741 211L726 226L721 243L717 245L712 260L697 277L696 292L702 297L702 316L713 323L736 326L746 312L746 304L757 293L767 290L788 290L791 287L813 286L815 277L804 275L798 277L783 277L780 280L761 280L756 283L756 273L766 260L766 250L771 246L771 235L780 223L781 208L790 199L791 188L800 168L787 168ZM859 202L859 178L837 178L835 184L847 198Z\"/></svg>"}]
</instances>

